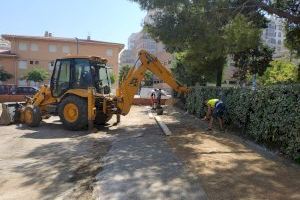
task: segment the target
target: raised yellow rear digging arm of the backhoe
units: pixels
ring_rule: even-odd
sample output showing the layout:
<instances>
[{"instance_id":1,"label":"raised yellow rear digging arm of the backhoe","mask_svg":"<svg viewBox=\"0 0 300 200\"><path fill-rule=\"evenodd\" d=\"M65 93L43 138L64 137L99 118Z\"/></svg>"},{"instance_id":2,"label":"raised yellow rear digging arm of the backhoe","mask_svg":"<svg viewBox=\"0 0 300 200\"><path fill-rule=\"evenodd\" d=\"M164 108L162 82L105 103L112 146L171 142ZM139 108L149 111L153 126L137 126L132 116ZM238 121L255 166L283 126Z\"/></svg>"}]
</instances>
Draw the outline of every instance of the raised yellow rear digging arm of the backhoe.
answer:
<instances>
[{"instance_id":1,"label":"raised yellow rear digging arm of the backhoe","mask_svg":"<svg viewBox=\"0 0 300 200\"><path fill-rule=\"evenodd\" d=\"M145 50L139 52L140 66L131 68L122 81L117 91L118 108L122 115L126 115L133 103L134 95L136 94L141 81L144 79L145 72L151 71L158 78L167 83L178 93L188 92L188 88L177 82L171 72L161 64L156 56L148 53Z\"/></svg>"}]
</instances>

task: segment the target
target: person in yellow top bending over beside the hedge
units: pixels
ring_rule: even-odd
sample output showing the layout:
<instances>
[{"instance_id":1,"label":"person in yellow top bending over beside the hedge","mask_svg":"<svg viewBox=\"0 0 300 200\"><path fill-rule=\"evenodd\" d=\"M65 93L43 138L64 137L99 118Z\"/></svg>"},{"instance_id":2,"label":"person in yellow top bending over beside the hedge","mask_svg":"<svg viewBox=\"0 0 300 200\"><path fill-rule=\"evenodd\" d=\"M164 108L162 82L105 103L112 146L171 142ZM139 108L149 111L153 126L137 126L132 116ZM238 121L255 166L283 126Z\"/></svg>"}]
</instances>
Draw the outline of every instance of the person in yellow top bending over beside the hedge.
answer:
<instances>
[{"instance_id":1,"label":"person in yellow top bending over beside the hedge","mask_svg":"<svg viewBox=\"0 0 300 200\"><path fill-rule=\"evenodd\" d=\"M212 130L212 125L214 118L219 120L220 129L224 130L224 112L225 105L219 99L210 99L206 101L205 106L207 106L206 116L202 120L209 120L208 129Z\"/></svg>"}]
</instances>

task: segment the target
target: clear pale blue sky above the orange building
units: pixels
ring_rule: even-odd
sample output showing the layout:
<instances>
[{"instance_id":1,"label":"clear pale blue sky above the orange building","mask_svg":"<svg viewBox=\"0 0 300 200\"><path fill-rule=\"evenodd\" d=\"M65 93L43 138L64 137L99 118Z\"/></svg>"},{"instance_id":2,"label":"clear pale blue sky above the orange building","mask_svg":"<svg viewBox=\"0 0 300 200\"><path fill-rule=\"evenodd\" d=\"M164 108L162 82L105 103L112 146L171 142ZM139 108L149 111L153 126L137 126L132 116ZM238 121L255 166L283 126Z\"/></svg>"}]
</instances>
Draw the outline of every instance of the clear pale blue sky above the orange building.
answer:
<instances>
[{"instance_id":1,"label":"clear pale blue sky above the orange building","mask_svg":"<svg viewBox=\"0 0 300 200\"><path fill-rule=\"evenodd\" d=\"M0 34L53 36L127 45L145 11L129 0L9 0L0 3Z\"/></svg>"}]
</instances>

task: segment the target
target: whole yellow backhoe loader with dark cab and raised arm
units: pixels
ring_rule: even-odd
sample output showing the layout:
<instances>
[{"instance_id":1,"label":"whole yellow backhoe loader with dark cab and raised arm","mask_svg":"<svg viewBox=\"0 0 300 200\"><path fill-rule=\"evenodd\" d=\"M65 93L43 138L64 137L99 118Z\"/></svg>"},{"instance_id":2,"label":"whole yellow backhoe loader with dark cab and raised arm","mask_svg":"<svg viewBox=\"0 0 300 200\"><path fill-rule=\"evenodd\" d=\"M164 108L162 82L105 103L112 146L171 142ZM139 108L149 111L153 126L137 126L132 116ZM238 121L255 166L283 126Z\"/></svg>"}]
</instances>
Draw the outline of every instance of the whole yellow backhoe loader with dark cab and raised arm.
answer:
<instances>
[{"instance_id":1,"label":"whole yellow backhoe loader with dark cab and raised arm","mask_svg":"<svg viewBox=\"0 0 300 200\"><path fill-rule=\"evenodd\" d=\"M141 50L139 61L140 65L132 67L122 80L116 95L111 95L106 59L95 56L57 59L50 87L43 85L25 103L4 103L1 121L4 124L25 123L36 127L43 118L58 115L70 130L105 124L114 114L128 114L147 70L178 93L188 91L154 55Z\"/></svg>"}]
</instances>

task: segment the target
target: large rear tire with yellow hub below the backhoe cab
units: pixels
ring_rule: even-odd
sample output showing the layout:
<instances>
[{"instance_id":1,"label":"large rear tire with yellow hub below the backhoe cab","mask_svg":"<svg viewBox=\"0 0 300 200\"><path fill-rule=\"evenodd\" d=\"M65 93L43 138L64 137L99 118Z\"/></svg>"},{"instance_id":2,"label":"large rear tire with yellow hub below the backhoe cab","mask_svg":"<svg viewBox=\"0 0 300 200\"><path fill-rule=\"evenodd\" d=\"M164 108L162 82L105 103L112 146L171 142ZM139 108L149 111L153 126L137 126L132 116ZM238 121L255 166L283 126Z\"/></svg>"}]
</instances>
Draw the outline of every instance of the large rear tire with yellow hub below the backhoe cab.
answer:
<instances>
[{"instance_id":1,"label":"large rear tire with yellow hub below the backhoe cab","mask_svg":"<svg viewBox=\"0 0 300 200\"><path fill-rule=\"evenodd\" d=\"M58 107L58 114L63 125L69 130L82 130L88 124L87 101L78 96L68 96Z\"/></svg>"}]
</instances>

